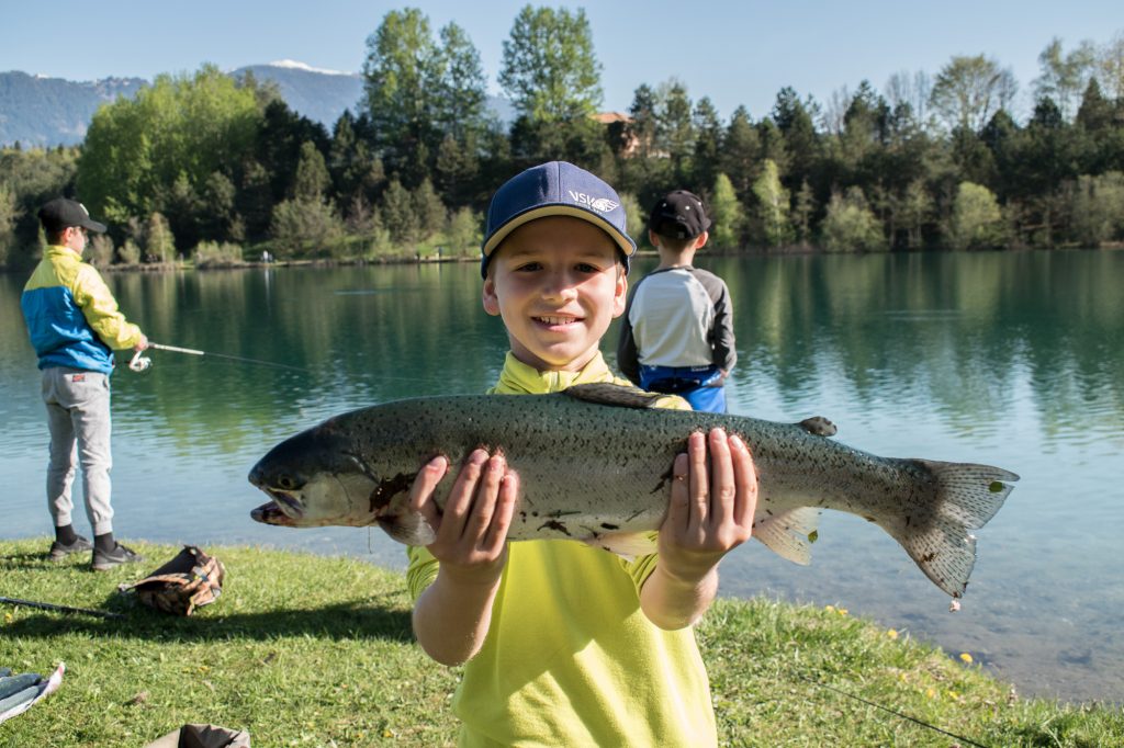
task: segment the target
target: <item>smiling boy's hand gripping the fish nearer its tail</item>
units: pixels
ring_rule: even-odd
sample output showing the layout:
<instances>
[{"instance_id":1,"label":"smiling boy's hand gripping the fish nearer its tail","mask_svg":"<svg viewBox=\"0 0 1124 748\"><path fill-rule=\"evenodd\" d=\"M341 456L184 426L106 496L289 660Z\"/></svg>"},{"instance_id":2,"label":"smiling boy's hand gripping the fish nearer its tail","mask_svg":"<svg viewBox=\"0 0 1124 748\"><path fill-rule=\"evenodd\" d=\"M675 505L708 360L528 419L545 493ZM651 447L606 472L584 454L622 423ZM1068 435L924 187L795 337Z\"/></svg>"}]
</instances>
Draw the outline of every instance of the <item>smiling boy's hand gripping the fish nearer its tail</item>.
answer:
<instances>
[{"instance_id":1,"label":"smiling boy's hand gripping the fish nearer its tail","mask_svg":"<svg viewBox=\"0 0 1124 748\"><path fill-rule=\"evenodd\" d=\"M689 437L687 454L676 456L672 477L659 563L670 576L696 584L750 539L758 476L745 443L716 428Z\"/></svg>"}]
</instances>

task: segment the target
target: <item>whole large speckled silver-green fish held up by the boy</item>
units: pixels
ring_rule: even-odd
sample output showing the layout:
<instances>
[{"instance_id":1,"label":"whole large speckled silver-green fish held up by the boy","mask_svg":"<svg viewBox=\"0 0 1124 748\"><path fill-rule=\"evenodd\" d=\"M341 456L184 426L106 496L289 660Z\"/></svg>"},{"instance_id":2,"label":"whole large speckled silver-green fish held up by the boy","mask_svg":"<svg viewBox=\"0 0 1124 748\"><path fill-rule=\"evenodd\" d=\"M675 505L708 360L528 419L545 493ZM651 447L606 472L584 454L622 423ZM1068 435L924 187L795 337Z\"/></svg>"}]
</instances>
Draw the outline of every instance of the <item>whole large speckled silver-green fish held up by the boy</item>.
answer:
<instances>
[{"instance_id":1,"label":"whole large speckled silver-green fish held up by the boy","mask_svg":"<svg viewBox=\"0 0 1124 748\"><path fill-rule=\"evenodd\" d=\"M804 425L651 408L651 395L580 385L550 395L457 395L352 411L282 441L250 481L273 501L251 516L269 524L379 524L408 545L433 541L408 508L418 469L436 455L462 464L477 447L502 449L519 475L508 538L571 539L641 553L670 496L671 465L694 431L722 427L749 445L759 481L753 536L806 564L823 509L850 512L892 536L946 593L963 594L976 560L971 530L1017 481L987 465L878 457ZM438 489L444 504L451 471Z\"/></svg>"}]
</instances>

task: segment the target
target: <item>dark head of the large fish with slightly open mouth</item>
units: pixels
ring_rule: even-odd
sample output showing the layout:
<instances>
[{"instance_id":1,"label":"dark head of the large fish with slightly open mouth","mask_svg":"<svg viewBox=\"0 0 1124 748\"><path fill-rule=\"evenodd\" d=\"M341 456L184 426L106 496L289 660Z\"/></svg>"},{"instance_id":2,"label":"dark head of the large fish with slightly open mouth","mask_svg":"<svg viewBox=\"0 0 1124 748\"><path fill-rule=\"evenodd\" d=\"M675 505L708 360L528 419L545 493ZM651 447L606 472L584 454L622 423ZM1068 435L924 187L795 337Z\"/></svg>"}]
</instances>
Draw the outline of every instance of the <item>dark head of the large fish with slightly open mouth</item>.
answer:
<instances>
[{"instance_id":1,"label":"dark head of the large fish with slightly open mouth","mask_svg":"<svg viewBox=\"0 0 1124 748\"><path fill-rule=\"evenodd\" d=\"M378 521L381 481L328 421L273 447L250 471L271 501L250 516L280 527L365 527Z\"/></svg>"}]
</instances>

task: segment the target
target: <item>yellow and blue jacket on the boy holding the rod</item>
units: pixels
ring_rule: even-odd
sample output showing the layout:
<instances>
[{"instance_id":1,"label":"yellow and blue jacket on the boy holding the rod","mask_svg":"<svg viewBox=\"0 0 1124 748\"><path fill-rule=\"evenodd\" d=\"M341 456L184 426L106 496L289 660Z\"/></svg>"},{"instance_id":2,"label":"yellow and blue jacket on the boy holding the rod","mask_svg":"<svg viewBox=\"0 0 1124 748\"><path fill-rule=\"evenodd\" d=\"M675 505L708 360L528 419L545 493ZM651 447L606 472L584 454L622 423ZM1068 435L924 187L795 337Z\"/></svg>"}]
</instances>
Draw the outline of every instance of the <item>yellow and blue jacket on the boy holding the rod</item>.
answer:
<instances>
[{"instance_id":1,"label":"yellow and blue jacket on the boy holding the rod","mask_svg":"<svg viewBox=\"0 0 1124 748\"><path fill-rule=\"evenodd\" d=\"M114 350L140 341L140 328L117 310L98 271L67 247L47 247L19 305L39 368L67 366L111 374Z\"/></svg>"}]
</instances>

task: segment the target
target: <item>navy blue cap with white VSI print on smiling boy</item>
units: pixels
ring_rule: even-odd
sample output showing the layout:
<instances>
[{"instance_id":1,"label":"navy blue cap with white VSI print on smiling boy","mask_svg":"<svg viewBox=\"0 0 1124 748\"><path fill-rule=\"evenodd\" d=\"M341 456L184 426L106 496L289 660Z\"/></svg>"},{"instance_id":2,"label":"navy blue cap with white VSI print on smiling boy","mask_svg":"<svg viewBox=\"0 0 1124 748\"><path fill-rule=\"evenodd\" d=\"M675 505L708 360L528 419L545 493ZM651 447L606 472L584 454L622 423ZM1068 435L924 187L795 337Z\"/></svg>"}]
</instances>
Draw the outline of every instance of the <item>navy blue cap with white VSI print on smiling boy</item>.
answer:
<instances>
[{"instance_id":1,"label":"navy blue cap with white VSI print on smiling boy","mask_svg":"<svg viewBox=\"0 0 1124 748\"><path fill-rule=\"evenodd\" d=\"M516 174L496 191L488 206L488 226L480 246L480 274L508 234L536 218L570 216L589 221L609 235L620 249L625 272L636 243L625 228L625 208L616 191L584 168L552 161Z\"/></svg>"}]
</instances>

